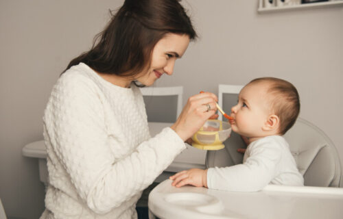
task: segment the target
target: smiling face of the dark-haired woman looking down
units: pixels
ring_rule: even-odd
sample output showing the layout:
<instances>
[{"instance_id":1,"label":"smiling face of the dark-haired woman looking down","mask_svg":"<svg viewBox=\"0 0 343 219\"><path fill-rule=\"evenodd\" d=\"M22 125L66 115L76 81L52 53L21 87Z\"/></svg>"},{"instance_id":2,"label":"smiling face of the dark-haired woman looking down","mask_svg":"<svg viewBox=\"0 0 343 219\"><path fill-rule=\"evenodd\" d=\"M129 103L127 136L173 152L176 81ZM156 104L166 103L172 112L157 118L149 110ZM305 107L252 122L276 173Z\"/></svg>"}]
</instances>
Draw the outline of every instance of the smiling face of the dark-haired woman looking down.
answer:
<instances>
[{"instance_id":1,"label":"smiling face of the dark-haired woman looking down","mask_svg":"<svg viewBox=\"0 0 343 219\"><path fill-rule=\"evenodd\" d=\"M145 86L152 86L164 73L171 75L176 59L182 57L188 45L188 35L166 34L156 43L152 51L150 68L147 72L137 75L136 80Z\"/></svg>"}]
</instances>

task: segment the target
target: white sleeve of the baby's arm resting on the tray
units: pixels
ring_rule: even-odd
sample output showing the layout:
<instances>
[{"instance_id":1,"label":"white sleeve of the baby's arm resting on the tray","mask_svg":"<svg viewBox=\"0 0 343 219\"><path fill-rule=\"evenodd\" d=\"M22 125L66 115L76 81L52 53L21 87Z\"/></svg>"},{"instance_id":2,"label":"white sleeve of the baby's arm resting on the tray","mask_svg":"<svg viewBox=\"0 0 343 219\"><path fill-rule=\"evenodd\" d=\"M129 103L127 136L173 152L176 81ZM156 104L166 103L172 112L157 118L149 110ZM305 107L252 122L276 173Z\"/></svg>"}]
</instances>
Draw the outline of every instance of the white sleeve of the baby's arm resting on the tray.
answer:
<instances>
[{"instance_id":1,"label":"white sleeve of the baby's arm resting on the tray","mask_svg":"<svg viewBox=\"0 0 343 219\"><path fill-rule=\"evenodd\" d=\"M209 168L207 185L217 190L255 192L262 190L277 174L281 150L272 142L258 142L244 164Z\"/></svg>"}]
</instances>

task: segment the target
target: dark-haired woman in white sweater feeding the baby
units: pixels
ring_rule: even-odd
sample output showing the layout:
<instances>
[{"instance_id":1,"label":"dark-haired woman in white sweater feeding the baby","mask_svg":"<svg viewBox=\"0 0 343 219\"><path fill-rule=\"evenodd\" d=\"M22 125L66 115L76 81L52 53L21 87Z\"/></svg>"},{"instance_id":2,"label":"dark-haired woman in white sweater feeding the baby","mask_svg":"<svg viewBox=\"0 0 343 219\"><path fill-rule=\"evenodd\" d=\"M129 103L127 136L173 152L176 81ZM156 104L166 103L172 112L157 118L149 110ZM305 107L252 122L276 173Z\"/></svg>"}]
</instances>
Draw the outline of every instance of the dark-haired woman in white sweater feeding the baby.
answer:
<instances>
[{"instance_id":1,"label":"dark-haired woman in white sweater feeding the baby","mask_svg":"<svg viewBox=\"0 0 343 219\"><path fill-rule=\"evenodd\" d=\"M45 110L41 218L137 218L141 192L215 114L217 97L197 94L174 125L154 138L148 131L136 84L171 75L194 38L178 1L125 1L93 48L70 62Z\"/></svg>"}]
</instances>

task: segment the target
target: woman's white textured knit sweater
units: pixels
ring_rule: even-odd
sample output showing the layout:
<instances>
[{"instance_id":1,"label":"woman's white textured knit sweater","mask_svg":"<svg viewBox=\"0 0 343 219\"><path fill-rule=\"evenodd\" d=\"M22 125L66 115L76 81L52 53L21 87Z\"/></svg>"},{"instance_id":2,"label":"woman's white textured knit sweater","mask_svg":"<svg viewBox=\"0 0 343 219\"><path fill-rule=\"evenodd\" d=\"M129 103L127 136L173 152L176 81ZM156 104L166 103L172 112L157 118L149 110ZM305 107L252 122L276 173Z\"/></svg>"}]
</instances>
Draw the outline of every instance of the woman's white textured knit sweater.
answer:
<instances>
[{"instance_id":1,"label":"woman's white textured knit sweater","mask_svg":"<svg viewBox=\"0 0 343 219\"><path fill-rule=\"evenodd\" d=\"M64 73L44 115L49 185L40 218L137 218L142 190L185 144L169 127L150 137L139 88L86 64Z\"/></svg>"}]
</instances>

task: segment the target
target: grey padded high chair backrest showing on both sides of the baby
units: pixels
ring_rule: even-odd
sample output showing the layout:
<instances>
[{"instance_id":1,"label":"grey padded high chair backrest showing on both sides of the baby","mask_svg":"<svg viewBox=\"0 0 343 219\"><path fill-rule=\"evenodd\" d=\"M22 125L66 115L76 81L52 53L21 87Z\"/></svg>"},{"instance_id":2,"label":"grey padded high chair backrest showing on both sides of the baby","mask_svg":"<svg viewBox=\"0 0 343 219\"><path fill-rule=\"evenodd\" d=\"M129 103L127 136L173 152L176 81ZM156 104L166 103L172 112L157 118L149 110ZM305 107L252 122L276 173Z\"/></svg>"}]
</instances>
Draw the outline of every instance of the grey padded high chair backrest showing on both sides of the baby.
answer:
<instances>
[{"instance_id":1,"label":"grey padded high chair backrest showing on both sides of the baby","mask_svg":"<svg viewBox=\"0 0 343 219\"><path fill-rule=\"evenodd\" d=\"M304 184L321 187L340 187L341 166L338 152L330 138L316 125L298 118L294 126L287 131L285 139L296 160ZM207 151L206 166L224 167L241 164L243 155L237 152L245 148L243 140L233 133L220 151Z\"/></svg>"}]
</instances>

